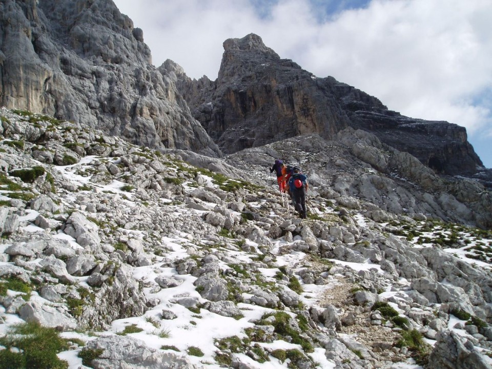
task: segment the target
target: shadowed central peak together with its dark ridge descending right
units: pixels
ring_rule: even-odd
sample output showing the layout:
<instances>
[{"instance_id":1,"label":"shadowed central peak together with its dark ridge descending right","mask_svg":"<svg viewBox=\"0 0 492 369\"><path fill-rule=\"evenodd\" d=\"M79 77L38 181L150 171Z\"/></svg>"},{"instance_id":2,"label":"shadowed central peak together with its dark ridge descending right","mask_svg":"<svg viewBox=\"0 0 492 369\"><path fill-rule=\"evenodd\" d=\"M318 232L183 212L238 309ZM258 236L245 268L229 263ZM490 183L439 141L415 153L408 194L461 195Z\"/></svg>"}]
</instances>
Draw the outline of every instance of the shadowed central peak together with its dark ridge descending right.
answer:
<instances>
[{"instance_id":1,"label":"shadowed central peak together with its dark ridge descending right","mask_svg":"<svg viewBox=\"0 0 492 369\"><path fill-rule=\"evenodd\" d=\"M228 39L223 46L215 81L191 80L169 61L163 68L174 70L193 115L225 153L299 134L332 139L353 127L374 133L440 174L474 175L484 169L463 127L390 111L373 96L281 59L255 34Z\"/></svg>"}]
</instances>

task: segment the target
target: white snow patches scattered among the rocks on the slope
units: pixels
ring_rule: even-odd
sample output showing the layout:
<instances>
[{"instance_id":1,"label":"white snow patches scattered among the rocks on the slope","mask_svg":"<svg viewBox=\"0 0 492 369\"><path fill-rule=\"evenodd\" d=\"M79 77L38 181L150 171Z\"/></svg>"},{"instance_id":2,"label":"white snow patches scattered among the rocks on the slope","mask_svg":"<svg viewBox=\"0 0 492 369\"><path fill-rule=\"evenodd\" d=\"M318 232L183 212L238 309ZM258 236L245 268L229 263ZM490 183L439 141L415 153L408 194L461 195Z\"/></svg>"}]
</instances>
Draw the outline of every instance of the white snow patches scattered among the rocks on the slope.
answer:
<instances>
[{"instance_id":1,"label":"white snow patches scattered among the rocks on the slope","mask_svg":"<svg viewBox=\"0 0 492 369\"><path fill-rule=\"evenodd\" d=\"M95 156L86 156L83 158L83 160L81 160L75 165L65 166L65 167L55 167L55 168L59 170L60 173L62 173L68 181L76 183L79 186L83 186L90 183L90 176L84 177L79 174L76 174L75 172L77 170L83 170L85 165L88 165L89 163L91 163L93 160L96 159L97 157ZM207 181L208 181L208 185L210 186L213 185L211 178L208 178ZM100 191L111 191L116 194L124 194L124 196L126 196L131 200L132 199L131 194L120 190L120 188L123 185L125 185L125 183L119 181L113 181L107 186L98 185L97 187L99 188ZM91 186L94 185L91 183ZM189 190L193 191L194 188L190 187ZM2 198L5 198L5 196L0 195L0 199ZM163 201L167 202L166 199L163 199ZM169 200L169 202L170 201L171 200ZM131 204L131 201L129 201L129 204ZM250 203L250 206L260 207L260 203ZM186 210L186 211L191 212L192 210ZM183 210L176 209L176 212L183 212ZM29 223L28 226L23 227L23 231L44 232L43 229L34 226L34 224L32 223L32 221L36 218L38 214L39 213L35 211L28 210L25 216L20 217L21 221L31 222ZM355 218L359 227L361 228L367 227L367 222L363 215L361 214L356 215ZM427 236L430 236L430 234ZM68 240L74 249L81 248L80 245L78 245L72 237L66 235L61 231L59 231L55 237ZM169 252L166 253L167 258L176 260L189 256L187 253L187 249L183 247L183 245L189 244L190 242L190 240L186 238L186 235L183 235L182 238L163 237L161 241L162 244L169 249ZM258 246L256 243L252 241L247 240L247 242L251 245L255 245L256 247ZM286 241L283 239L275 241L273 252L278 251L279 247L285 243ZM5 251L5 249L8 246L9 244L0 245L0 252ZM415 247L430 247L430 244L422 244L422 245L415 244ZM457 255L463 260L466 260L471 263L475 263L480 267L490 267L488 263L466 258L465 257L466 252L463 249L464 248L445 249L445 251ZM232 250L229 251L229 253L231 258L235 258L238 262L251 261L252 255L248 255L243 252L232 251ZM291 252L290 254L278 256L277 265L279 267L282 265L291 265L291 266L302 265L302 260L304 257L305 254L302 252ZM244 329L253 326L253 324L250 323L250 320L260 319L265 313L273 311L271 309L262 308L257 305L238 303L237 306L241 310L243 317L237 320L235 318L223 317L214 314L205 309L201 309L199 313L194 313L186 309L184 306L180 304L173 303L173 301L179 297L184 297L184 296L196 297L202 300L200 294L195 290L195 286L193 285L193 282L196 280L196 278L190 275L177 275L175 269L161 267L160 266L161 262L159 262L160 260L161 258L157 258L157 262L148 267L135 268L134 269L135 278L138 280L153 281L157 276L162 275L162 276L174 277L175 279L182 280L182 284L180 284L175 288L159 290L159 292L157 293L152 293L151 288L145 288L144 291L148 297L158 298L162 302L157 306L155 306L155 308L153 308L152 310L147 311L145 315L141 317L132 317L132 318L119 319L113 321L113 323L111 324L110 331L100 334L103 335L116 334L122 332L126 326L135 324L136 326L143 329L143 331L140 333L133 333L130 335L145 341L149 347L158 349L162 345L171 345L177 347L181 352L185 352L187 348L191 346L196 346L200 348L200 350L204 353L204 356L195 357L189 355L188 358L192 360L195 364L201 364L203 362L213 363L214 362L213 357L216 351L214 340L229 337L229 336L238 336L239 338L242 338L245 336L245 334L243 333ZM384 271L381 270L379 265L373 264L369 260L367 260L364 263L344 262L340 260L332 260L332 261L335 262L336 264L348 265L350 268L356 271L366 271L366 270L376 269L378 273L385 273ZM6 263L1 263L1 264L6 264ZM260 268L259 271L265 277L273 279L278 269ZM85 278L78 278L79 281L84 281L84 279ZM404 282L404 280L402 280L401 282ZM336 279L333 278L333 283L328 283L325 285L302 284L302 288L304 292L301 296L301 301L305 305L316 304L317 302L316 297L322 295L325 291L333 288L333 286L336 285L336 283L337 283ZM394 292L386 291L381 296L390 297L390 296L396 296L396 294ZM40 297L38 296L36 297L35 294L33 294L33 298L40 298ZM393 304L393 306L395 307L396 304ZM159 318L159 315L161 314L162 310L173 311L177 315L177 318L172 320L161 320ZM4 322L7 324L22 322L22 320L18 318L17 315L5 313L5 309L3 308L3 306L0 306L0 315L4 320ZM158 327L155 327L152 324L151 321L153 317L156 317L155 321L158 322L159 324ZM0 321L0 334L6 333L6 324L3 324L4 322ZM464 330L455 328L455 325L458 322L460 322L459 319L452 317L449 321L449 329L454 330L455 332L457 332L462 336L465 337L468 336L468 334ZM167 333L169 337L167 338L159 337L159 334L161 336L165 336L165 334L163 333ZM86 341L95 338L95 336L90 337L86 334L75 333L75 332L65 332L62 334L62 336L66 338L79 338ZM432 343L432 341L430 342ZM265 347L268 346L272 348L283 348L283 349L298 347L298 345L288 343L285 341L260 343L260 345ZM84 367L82 365L81 359L77 357L78 352L79 350L71 350L71 351L60 353L58 356L61 359L68 361L69 369L78 369ZM253 359L243 354L239 354L239 356L241 357L241 360L243 362L248 363L253 367L258 367L262 369L285 368L287 364L287 362L281 363L279 360L275 358L271 358L271 361L267 361L260 364L257 361L254 361ZM310 354L310 356L313 358L315 362L318 363L319 368L333 369L335 367L334 363L326 359L326 357L324 356L324 349L322 348L316 348L315 352ZM490 359L490 362L492 365L492 359ZM218 368L219 365L208 364L207 367ZM392 367L394 369L421 368L421 366L412 363L398 363L398 364L394 364Z\"/></svg>"}]
</instances>

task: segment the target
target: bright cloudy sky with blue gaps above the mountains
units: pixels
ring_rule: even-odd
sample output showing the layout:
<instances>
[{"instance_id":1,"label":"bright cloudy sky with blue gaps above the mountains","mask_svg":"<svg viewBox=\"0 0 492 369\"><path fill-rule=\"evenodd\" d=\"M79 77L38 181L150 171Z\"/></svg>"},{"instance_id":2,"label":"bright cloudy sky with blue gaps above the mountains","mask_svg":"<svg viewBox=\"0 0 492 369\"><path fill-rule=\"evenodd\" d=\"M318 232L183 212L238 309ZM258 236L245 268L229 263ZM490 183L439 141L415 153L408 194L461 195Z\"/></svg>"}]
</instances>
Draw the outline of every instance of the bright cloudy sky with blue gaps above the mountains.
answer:
<instances>
[{"instance_id":1,"label":"bright cloudy sky with blue gaps above the mountains","mask_svg":"<svg viewBox=\"0 0 492 369\"><path fill-rule=\"evenodd\" d=\"M114 0L153 63L217 78L227 38L256 33L281 58L414 118L466 127L492 168L490 0Z\"/></svg>"}]
</instances>

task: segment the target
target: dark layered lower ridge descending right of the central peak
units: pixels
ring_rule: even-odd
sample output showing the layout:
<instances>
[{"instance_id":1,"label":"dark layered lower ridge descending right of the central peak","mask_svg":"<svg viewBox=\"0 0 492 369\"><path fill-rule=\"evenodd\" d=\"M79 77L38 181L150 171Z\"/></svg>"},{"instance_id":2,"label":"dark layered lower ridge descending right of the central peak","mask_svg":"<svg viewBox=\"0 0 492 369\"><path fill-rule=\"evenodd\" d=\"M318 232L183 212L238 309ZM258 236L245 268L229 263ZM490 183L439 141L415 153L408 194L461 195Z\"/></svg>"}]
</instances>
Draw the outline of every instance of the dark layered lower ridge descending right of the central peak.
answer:
<instances>
[{"instance_id":1,"label":"dark layered lower ridge descending right of the central peak","mask_svg":"<svg viewBox=\"0 0 492 369\"><path fill-rule=\"evenodd\" d=\"M353 87L334 86L336 99L352 127L374 133L385 144L414 155L439 174L471 176L484 170L467 141L464 127L409 118L388 110Z\"/></svg>"}]
</instances>

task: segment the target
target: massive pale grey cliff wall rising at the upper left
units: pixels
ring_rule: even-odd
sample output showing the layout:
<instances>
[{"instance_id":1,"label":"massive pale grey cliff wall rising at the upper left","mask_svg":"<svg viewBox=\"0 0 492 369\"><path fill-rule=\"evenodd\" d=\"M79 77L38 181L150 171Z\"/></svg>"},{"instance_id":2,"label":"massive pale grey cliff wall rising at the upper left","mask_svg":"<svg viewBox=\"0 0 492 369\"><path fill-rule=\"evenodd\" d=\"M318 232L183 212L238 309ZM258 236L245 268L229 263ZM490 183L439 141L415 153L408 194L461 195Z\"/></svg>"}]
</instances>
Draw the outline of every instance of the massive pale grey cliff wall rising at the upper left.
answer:
<instances>
[{"instance_id":1,"label":"massive pale grey cliff wall rising at the upper left","mask_svg":"<svg viewBox=\"0 0 492 369\"><path fill-rule=\"evenodd\" d=\"M134 144L220 156L143 32L111 0L0 3L0 105L46 113Z\"/></svg>"}]
</instances>

